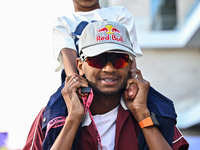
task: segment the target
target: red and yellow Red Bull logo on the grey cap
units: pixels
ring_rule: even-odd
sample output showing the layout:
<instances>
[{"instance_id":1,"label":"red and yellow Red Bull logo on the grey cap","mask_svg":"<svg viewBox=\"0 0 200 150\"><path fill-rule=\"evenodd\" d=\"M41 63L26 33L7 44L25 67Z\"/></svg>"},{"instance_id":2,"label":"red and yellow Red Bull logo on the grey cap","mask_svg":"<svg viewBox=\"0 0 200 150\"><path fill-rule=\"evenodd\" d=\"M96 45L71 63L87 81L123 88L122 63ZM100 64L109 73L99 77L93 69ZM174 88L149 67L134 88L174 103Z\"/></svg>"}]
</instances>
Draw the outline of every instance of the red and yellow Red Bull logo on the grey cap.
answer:
<instances>
[{"instance_id":1,"label":"red and yellow Red Bull logo on the grey cap","mask_svg":"<svg viewBox=\"0 0 200 150\"><path fill-rule=\"evenodd\" d=\"M123 38L121 36L120 30L113 27L112 25L107 25L99 30L97 30L98 33L105 32L107 33L106 36L97 36L96 41L103 41L103 40L116 40L119 42L123 42ZM120 36L114 35L114 33L119 33ZM113 35L111 35L113 34Z\"/></svg>"}]
</instances>

